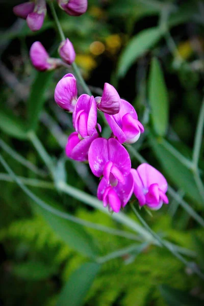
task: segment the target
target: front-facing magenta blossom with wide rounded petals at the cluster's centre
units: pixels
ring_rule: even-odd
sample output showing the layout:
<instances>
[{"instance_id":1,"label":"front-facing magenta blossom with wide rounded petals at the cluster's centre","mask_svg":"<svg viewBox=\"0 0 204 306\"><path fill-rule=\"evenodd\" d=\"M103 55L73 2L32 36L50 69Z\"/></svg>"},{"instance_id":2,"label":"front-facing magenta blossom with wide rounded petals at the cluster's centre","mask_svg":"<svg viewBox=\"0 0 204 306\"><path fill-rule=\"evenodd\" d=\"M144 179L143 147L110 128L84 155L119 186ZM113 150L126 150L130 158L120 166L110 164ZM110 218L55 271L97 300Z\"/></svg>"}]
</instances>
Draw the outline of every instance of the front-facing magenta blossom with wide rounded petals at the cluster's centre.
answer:
<instances>
[{"instance_id":1,"label":"front-facing magenta blossom with wide rounded petals at the cluster's centre","mask_svg":"<svg viewBox=\"0 0 204 306\"><path fill-rule=\"evenodd\" d=\"M107 184L125 184L124 176L131 170L131 159L126 149L115 139L95 139L89 148L89 166L97 177L104 175Z\"/></svg>"}]
</instances>

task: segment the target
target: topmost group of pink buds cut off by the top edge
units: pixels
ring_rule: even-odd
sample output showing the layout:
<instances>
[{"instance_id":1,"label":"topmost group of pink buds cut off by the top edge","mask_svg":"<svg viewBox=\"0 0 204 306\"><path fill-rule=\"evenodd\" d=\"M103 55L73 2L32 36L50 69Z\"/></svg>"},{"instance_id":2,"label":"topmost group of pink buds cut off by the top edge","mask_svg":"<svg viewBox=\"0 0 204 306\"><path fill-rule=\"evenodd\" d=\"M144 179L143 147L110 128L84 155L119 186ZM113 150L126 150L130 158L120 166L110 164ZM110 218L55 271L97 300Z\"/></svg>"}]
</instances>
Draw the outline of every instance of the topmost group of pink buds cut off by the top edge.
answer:
<instances>
[{"instance_id":1,"label":"topmost group of pink buds cut off by the top edge","mask_svg":"<svg viewBox=\"0 0 204 306\"><path fill-rule=\"evenodd\" d=\"M80 16L87 10L87 0L58 0L59 7L68 15ZM46 16L46 1L35 0L16 5L13 8L16 16L25 19L31 31L42 28Z\"/></svg>"}]
</instances>

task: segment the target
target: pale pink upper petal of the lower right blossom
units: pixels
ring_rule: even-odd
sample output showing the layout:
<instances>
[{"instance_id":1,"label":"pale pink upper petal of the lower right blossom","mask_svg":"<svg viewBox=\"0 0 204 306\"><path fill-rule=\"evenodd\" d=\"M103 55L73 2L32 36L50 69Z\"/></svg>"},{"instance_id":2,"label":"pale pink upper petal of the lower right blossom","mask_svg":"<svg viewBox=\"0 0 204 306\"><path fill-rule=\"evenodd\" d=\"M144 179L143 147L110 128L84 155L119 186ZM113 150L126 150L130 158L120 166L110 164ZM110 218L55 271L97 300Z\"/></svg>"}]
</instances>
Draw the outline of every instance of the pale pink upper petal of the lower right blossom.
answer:
<instances>
[{"instance_id":1,"label":"pale pink upper petal of the lower right blossom","mask_svg":"<svg viewBox=\"0 0 204 306\"><path fill-rule=\"evenodd\" d=\"M137 172L143 183L143 186L148 190L151 184L158 184L159 189L166 193L168 184L165 177L154 167L144 163L137 168Z\"/></svg>"}]
</instances>

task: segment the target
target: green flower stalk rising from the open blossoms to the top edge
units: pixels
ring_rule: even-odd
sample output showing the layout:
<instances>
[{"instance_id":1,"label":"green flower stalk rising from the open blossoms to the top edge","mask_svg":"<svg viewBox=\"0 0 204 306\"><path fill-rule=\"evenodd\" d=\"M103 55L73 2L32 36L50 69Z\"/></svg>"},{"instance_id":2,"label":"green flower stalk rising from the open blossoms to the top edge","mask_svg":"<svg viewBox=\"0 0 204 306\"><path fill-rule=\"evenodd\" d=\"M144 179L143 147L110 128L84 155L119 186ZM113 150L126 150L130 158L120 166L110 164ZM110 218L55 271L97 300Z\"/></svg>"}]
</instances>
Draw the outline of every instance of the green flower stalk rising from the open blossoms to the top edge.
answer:
<instances>
[{"instance_id":1,"label":"green flower stalk rising from the open blossoms to the top edge","mask_svg":"<svg viewBox=\"0 0 204 306\"><path fill-rule=\"evenodd\" d=\"M61 27L61 24L60 24L60 21L58 19L58 16L57 16L57 13L56 13L56 10L55 10L55 6L53 4L53 2L50 2L49 3L49 6L50 6L50 10L52 11L52 14L53 14L53 17L54 17L54 20L55 20L55 23L56 23L56 26L57 26L57 29L58 29L58 32L60 34L60 38L61 40L65 40L66 37L64 35L64 32L62 30L62 27ZM73 68L73 71L75 73L75 76L77 77L78 81L80 82L80 84L82 85L84 91L88 94L88 95L92 95L91 94L91 91L89 89L89 87L86 85L83 77L82 77L82 74L77 66L77 64L75 62L72 63L72 68Z\"/></svg>"}]
</instances>

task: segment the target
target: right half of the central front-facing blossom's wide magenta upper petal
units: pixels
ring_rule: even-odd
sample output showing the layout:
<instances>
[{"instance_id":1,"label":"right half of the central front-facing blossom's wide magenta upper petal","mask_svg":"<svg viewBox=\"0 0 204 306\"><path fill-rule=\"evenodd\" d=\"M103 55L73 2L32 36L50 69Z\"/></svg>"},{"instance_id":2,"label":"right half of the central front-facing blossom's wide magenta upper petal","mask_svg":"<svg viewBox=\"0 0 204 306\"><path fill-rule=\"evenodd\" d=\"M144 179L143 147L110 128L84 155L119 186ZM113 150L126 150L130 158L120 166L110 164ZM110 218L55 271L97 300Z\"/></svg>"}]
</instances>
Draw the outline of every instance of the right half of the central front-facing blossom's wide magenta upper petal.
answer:
<instances>
[{"instance_id":1,"label":"right half of the central front-facing blossom's wide magenta upper petal","mask_svg":"<svg viewBox=\"0 0 204 306\"><path fill-rule=\"evenodd\" d=\"M127 150L115 138L108 139L109 160L122 172L125 176L130 173L131 159Z\"/></svg>"}]
</instances>

